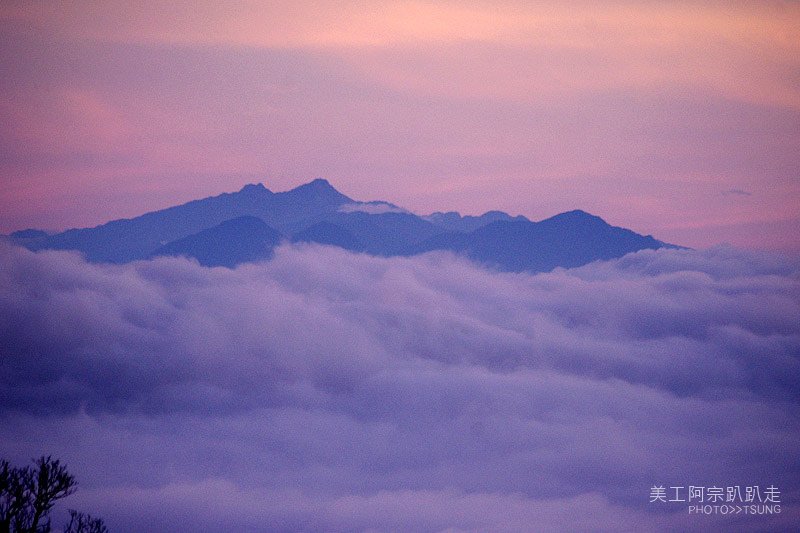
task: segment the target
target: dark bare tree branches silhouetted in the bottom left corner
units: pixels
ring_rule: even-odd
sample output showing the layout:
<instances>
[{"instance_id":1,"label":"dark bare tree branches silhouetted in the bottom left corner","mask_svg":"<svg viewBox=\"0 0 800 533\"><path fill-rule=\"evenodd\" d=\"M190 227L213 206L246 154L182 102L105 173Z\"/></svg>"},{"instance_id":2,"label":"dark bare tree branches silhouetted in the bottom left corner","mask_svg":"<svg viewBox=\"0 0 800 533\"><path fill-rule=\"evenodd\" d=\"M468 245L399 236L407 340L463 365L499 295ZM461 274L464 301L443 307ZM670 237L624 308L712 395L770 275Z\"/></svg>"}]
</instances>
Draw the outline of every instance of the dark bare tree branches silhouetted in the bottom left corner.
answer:
<instances>
[{"instance_id":1,"label":"dark bare tree branches silhouetted in the bottom left corner","mask_svg":"<svg viewBox=\"0 0 800 533\"><path fill-rule=\"evenodd\" d=\"M42 456L33 466L0 460L0 533L49 533L50 510L75 492L77 482L58 459ZM103 521L70 511L69 533L108 533Z\"/></svg>"}]
</instances>

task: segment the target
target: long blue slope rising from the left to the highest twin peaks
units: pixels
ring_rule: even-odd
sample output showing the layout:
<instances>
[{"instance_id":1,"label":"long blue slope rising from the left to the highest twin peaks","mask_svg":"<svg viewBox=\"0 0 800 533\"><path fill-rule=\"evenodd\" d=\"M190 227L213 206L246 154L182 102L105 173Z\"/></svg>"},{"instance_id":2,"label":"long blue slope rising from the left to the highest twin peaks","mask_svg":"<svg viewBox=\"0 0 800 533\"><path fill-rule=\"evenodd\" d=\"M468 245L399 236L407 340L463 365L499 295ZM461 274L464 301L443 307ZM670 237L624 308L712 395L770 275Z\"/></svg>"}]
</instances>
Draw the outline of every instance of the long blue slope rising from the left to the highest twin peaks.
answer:
<instances>
[{"instance_id":1,"label":"long blue slope rising from the left to the highest twin peaks","mask_svg":"<svg viewBox=\"0 0 800 533\"><path fill-rule=\"evenodd\" d=\"M78 250L89 261L126 263L148 257L160 246L240 216L255 216L287 234L308 220L335 213L352 200L325 180L317 179L291 191L273 193L263 185L246 185L239 192L195 200L136 218L95 228L71 229L37 239L31 249Z\"/></svg>"}]
</instances>

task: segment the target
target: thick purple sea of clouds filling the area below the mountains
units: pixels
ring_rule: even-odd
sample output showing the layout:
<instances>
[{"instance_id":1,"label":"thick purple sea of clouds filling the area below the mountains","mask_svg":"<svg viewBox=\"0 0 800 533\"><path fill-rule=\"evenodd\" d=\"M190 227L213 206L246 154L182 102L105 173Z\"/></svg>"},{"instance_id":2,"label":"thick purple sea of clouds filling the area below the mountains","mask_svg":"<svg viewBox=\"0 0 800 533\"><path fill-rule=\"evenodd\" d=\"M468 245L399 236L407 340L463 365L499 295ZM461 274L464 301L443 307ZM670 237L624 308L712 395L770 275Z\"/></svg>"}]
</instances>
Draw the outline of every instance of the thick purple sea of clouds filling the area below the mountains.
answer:
<instances>
[{"instance_id":1,"label":"thick purple sea of clouds filling the area below the mountains","mask_svg":"<svg viewBox=\"0 0 800 533\"><path fill-rule=\"evenodd\" d=\"M115 532L800 523L796 260L529 275L286 245L229 270L0 246L0 453L67 463L59 513ZM773 485L781 512L690 515L654 485Z\"/></svg>"}]
</instances>

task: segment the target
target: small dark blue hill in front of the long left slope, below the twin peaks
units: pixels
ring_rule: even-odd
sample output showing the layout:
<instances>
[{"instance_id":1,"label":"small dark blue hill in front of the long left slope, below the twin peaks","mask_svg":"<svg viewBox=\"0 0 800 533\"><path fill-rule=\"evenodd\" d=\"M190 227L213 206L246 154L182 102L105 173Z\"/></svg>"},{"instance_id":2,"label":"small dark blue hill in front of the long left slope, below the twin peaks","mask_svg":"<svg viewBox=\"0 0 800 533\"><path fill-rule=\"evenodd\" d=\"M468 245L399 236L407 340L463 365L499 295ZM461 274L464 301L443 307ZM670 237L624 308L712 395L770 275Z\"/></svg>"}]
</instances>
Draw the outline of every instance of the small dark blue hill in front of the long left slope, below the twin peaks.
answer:
<instances>
[{"instance_id":1,"label":"small dark blue hill in front of the long left slope, below the twin peaks","mask_svg":"<svg viewBox=\"0 0 800 533\"><path fill-rule=\"evenodd\" d=\"M203 266L233 268L272 257L280 240L281 234L260 218L243 216L172 241L150 256L180 255L193 257Z\"/></svg>"}]
</instances>

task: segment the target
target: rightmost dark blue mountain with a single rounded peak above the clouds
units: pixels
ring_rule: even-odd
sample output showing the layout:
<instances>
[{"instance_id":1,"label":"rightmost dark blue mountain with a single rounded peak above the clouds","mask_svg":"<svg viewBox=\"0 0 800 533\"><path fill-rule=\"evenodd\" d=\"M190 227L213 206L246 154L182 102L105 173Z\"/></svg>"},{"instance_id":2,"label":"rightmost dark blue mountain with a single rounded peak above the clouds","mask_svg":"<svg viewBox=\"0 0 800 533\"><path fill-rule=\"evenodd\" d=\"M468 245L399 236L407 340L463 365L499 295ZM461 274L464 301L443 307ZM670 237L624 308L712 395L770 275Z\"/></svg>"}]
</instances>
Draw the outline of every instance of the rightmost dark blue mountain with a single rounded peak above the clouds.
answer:
<instances>
[{"instance_id":1,"label":"rightmost dark blue mountain with a single rounded peak above the clouds","mask_svg":"<svg viewBox=\"0 0 800 533\"><path fill-rule=\"evenodd\" d=\"M611 226L584 211L570 211L541 222L498 221L468 234L437 235L410 253L449 250L501 270L545 272L662 246L649 235Z\"/></svg>"}]
</instances>

